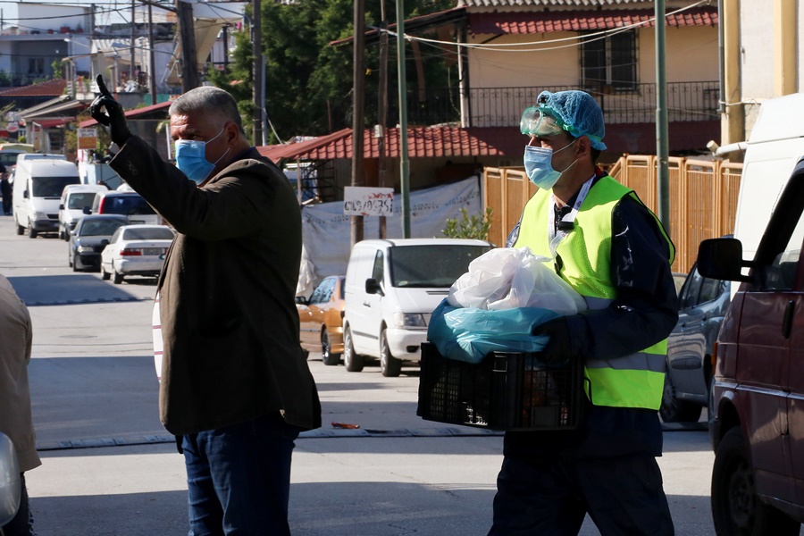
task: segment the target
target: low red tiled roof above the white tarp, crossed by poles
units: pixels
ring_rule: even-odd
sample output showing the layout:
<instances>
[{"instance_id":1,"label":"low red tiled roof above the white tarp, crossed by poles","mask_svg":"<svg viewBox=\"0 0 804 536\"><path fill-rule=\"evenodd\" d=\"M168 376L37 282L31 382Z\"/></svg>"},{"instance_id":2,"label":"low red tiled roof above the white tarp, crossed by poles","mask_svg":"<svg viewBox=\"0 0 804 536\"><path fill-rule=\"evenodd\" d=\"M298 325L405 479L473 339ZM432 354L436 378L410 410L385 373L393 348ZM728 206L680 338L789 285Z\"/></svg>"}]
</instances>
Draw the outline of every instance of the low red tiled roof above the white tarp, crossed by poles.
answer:
<instances>
[{"instance_id":1,"label":"low red tiled roof above the white tarp, crossed by poles","mask_svg":"<svg viewBox=\"0 0 804 536\"><path fill-rule=\"evenodd\" d=\"M399 157L399 130L389 129L387 155ZM365 158L380 155L378 138L373 130L365 130ZM407 130L407 153L410 158L440 156L519 156L524 147L523 136L510 127L468 128L412 127ZM274 162L289 160L332 160L352 157L352 130L344 129L301 143L257 147L261 155Z\"/></svg>"}]
</instances>

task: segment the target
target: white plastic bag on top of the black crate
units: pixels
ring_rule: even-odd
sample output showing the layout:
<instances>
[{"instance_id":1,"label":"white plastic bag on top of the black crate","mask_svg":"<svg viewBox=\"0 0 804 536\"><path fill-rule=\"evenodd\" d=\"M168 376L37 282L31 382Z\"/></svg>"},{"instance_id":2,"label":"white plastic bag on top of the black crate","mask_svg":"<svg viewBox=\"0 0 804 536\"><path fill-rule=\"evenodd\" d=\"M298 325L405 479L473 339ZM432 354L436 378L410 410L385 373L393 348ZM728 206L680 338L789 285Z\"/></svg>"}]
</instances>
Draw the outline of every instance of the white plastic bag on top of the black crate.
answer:
<instances>
[{"instance_id":1,"label":"white plastic bag on top of the black crate","mask_svg":"<svg viewBox=\"0 0 804 536\"><path fill-rule=\"evenodd\" d=\"M586 302L553 270L549 258L529 247L498 247L477 257L449 289L451 306L478 309L541 307L560 315L585 310Z\"/></svg>"}]
</instances>

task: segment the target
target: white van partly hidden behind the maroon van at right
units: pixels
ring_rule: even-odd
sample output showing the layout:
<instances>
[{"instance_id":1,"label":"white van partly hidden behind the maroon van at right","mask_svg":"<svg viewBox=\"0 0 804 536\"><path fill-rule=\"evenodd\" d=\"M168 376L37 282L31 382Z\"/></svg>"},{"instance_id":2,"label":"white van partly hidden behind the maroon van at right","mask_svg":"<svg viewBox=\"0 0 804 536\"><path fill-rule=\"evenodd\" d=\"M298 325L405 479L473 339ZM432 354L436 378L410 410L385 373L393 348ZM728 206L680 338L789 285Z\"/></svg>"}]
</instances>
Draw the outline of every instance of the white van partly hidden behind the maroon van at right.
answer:
<instances>
[{"instance_id":1,"label":"white van partly hidden behind the maroon van at right","mask_svg":"<svg viewBox=\"0 0 804 536\"><path fill-rule=\"evenodd\" d=\"M743 160L734 238L745 259L754 258L759 239L782 190L804 155L804 93L762 103ZM732 285L732 294L739 285Z\"/></svg>"}]
</instances>

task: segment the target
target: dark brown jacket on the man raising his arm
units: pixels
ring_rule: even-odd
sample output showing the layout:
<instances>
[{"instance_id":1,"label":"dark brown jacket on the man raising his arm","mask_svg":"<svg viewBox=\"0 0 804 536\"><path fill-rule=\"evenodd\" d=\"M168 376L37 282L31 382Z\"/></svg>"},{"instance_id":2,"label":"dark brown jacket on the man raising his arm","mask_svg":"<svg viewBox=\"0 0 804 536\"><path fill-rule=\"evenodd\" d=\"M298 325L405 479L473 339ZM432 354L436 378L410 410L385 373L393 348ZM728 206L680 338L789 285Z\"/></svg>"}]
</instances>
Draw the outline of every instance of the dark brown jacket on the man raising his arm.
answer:
<instances>
[{"instance_id":1,"label":"dark brown jacket on the man raising his arm","mask_svg":"<svg viewBox=\"0 0 804 536\"><path fill-rule=\"evenodd\" d=\"M203 188L132 137L114 171L178 231L159 276L159 412L174 434L281 411L321 426L294 302L301 217L284 174L255 149Z\"/></svg>"}]
</instances>

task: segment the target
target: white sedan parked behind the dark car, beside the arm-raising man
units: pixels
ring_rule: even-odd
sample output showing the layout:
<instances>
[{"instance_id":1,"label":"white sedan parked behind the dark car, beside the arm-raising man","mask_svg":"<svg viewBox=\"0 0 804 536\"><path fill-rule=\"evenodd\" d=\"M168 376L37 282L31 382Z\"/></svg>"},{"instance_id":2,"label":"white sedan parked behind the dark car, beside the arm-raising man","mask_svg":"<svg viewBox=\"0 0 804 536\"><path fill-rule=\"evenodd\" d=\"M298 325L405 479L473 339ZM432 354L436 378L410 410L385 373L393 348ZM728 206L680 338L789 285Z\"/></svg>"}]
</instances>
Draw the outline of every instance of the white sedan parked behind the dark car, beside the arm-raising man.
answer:
<instances>
[{"instance_id":1,"label":"white sedan parked behind the dark car, beside the arm-raising man","mask_svg":"<svg viewBox=\"0 0 804 536\"><path fill-rule=\"evenodd\" d=\"M123 225L101 252L101 278L119 285L124 277L156 277L175 234L166 225Z\"/></svg>"}]
</instances>

